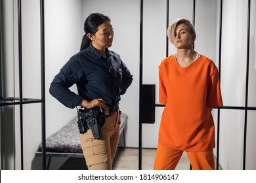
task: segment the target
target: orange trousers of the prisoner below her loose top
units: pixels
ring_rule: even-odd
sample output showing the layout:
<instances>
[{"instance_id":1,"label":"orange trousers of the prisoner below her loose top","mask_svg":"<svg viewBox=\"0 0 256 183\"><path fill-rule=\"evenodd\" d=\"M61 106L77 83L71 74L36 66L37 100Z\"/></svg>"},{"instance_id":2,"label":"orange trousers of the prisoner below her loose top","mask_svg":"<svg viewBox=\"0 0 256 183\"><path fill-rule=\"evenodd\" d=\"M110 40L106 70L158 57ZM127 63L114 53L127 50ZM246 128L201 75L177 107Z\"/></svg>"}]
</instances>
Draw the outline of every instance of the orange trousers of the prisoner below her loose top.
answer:
<instances>
[{"instance_id":1,"label":"orange trousers of the prisoner below her loose top","mask_svg":"<svg viewBox=\"0 0 256 183\"><path fill-rule=\"evenodd\" d=\"M155 170L174 170L183 151L167 148L158 144L156 150L156 159L154 163ZM192 165L193 170L214 170L215 161L213 157L213 150L208 152L186 152L188 159Z\"/></svg>"}]
</instances>

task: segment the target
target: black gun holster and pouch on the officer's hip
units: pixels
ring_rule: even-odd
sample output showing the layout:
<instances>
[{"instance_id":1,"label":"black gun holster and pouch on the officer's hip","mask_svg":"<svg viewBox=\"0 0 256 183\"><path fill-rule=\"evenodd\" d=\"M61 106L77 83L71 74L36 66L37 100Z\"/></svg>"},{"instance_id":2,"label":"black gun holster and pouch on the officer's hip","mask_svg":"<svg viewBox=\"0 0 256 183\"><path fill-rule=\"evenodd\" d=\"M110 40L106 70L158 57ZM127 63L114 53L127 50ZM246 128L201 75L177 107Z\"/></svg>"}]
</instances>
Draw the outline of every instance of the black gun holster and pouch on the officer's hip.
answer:
<instances>
[{"instance_id":1,"label":"black gun holster and pouch on the officer's hip","mask_svg":"<svg viewBox=\"0 0 256 183\"><path fill-rule=\"evenodd\" d=\"M100 117L100 115L102 115L102 113L97 108L77 110L79 133L84 134L88 129L91 129L93 137L95 137L95 139L101 139L101 127L105 123L105 118Z\"/></svg>"}]
</instances>

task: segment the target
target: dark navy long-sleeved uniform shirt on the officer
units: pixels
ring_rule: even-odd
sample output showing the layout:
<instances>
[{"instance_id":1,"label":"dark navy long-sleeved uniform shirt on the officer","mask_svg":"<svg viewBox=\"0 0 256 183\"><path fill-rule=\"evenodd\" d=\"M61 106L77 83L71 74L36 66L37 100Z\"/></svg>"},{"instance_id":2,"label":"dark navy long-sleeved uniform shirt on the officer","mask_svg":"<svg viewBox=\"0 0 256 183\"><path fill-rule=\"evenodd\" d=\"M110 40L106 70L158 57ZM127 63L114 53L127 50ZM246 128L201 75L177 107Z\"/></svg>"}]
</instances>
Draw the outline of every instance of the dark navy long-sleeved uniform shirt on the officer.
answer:
<instances>
[{"instance_id":1,"label":"dark navy long-sleeved uniform shirt on the officer","mask_svg":"<svg viewBox=\"0 0 256 183\"><path fill-rule=\"evenodd\" d=\"M75 54L60 69L50 86L50 93L60 103L75 108L82 99L104 99L108 107L114 107L116 97L126 92L133 81L129 69L115 52L106 48L104 58L92 44ZM69 88L76 84L78 93ZM118 90L121 88L122 92Z\"/></svg>"}]
</instances>

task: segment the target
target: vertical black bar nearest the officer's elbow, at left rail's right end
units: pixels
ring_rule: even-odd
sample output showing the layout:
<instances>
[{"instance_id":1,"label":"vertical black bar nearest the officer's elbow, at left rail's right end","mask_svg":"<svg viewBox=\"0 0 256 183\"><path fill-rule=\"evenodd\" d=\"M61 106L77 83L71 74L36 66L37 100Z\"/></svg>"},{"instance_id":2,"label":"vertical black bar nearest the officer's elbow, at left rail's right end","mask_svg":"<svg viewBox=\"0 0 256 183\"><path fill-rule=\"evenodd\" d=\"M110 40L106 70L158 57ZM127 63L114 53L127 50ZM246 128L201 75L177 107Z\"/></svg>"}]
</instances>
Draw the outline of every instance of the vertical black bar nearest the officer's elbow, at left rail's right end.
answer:
<instances>
[{"instance_id":1,"label":"vertical black bar nearest the officer's elbow, at left rail's right end","mask_svg":"<svg viewBox=\"0 0 256 183\"><path fill-rule=\"evenodd\" d=\"M41 133L42 133L42 169L46 169L45 151L45 1L40 1L40 27L41 27Z\"/></svg>"}]
</instances>

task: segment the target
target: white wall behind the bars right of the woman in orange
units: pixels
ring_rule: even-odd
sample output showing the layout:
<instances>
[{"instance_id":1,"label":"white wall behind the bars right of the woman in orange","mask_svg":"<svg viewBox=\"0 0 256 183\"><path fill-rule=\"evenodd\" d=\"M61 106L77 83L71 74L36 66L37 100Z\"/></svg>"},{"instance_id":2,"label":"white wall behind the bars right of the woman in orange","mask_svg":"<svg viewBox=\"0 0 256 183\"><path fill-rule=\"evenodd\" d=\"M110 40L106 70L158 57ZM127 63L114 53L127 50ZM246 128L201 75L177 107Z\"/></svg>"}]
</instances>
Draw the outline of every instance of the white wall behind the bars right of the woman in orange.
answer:
<instances>
[{"instance_id":1,"label":"white wall behind the bars right of the woman in orange","mask_svg":"<svg viewBox=\"0 0 256 183\"><path fill-rule=\"evenodd\" d=\"M251 35L249 56L249 106L255 102L255 1L251 1ZM247 61L247 1L223 1L223 49L221 88L226 106L245 105ZM248 112L246 169L256 169L255 118ZM244 148L243 110L221 111L220 163L223 169L242 169ZM253 155L254 154L254 155Z\"/></svg>"}]
</instances>

